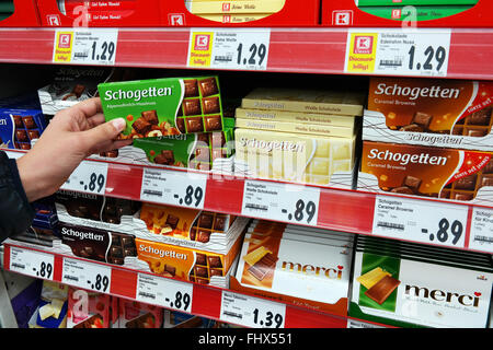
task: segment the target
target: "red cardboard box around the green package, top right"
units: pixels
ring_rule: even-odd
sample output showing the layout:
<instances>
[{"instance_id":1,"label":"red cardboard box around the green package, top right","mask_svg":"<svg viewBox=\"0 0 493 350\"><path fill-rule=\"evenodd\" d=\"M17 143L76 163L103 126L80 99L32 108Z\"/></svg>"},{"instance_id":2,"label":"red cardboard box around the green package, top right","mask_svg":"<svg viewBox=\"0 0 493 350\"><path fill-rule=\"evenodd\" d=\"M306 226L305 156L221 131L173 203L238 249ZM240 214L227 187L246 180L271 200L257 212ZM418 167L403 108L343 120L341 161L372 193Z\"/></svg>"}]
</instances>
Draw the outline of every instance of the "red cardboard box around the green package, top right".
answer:
<instances>
[{"instance_id":1,"label":"red cardboard box around the green package, top right","mask_svg":"<svg viewBox=\"0 0 493 350\"><path fill-rule=\"evenodd\" d=\"M416 7L417 8L417 7ZM322 0L322 25L346 27L493 27L493 1L479 0L463 12L429 21L387 20L358 9L355 0Z\"/></svg>"}]
</instances>

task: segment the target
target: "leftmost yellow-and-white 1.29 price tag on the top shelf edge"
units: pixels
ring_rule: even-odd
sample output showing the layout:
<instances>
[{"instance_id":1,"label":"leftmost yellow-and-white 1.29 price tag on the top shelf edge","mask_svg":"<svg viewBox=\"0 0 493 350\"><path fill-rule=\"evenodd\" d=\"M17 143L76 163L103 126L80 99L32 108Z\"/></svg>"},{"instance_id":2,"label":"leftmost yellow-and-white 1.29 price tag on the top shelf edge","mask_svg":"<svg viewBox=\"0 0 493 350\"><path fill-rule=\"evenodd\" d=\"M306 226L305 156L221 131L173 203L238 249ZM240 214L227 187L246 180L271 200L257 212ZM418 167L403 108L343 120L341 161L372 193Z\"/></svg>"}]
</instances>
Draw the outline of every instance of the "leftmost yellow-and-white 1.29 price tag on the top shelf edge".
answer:
<instances>
[{"instance_id":1,"label":"leftmost yellow-and-white 1.29 price tag on the top shelf edge","mask_svg":"<svg viewBox=\"0 0 493 350\"><path fill-rule=\"evenodd\" d=\"M53 51L54 63L115 65L118 30L57 30Z\"/></svg>"}]
</instances>

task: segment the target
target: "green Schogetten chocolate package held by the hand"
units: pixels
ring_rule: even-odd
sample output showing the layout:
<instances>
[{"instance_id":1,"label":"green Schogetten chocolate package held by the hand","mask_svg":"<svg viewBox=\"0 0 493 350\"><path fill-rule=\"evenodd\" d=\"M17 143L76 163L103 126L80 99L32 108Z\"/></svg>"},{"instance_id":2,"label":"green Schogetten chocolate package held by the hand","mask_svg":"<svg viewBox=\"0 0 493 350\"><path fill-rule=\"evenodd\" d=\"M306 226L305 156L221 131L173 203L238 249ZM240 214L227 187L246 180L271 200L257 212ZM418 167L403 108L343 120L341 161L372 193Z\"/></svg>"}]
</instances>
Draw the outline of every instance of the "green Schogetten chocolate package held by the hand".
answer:
<instances>
[{"instance_id":1,"label":"green Schogetten chocolate package held by the hand","mask_svg":"<svg viewBox=\"0 0 493 350\"><path fill-rule=\"evenodd\" d=\"M217 77L111 82L98 90L105 119L127 121L122 139L223 129Z\"/></svg>"}]
</instances>

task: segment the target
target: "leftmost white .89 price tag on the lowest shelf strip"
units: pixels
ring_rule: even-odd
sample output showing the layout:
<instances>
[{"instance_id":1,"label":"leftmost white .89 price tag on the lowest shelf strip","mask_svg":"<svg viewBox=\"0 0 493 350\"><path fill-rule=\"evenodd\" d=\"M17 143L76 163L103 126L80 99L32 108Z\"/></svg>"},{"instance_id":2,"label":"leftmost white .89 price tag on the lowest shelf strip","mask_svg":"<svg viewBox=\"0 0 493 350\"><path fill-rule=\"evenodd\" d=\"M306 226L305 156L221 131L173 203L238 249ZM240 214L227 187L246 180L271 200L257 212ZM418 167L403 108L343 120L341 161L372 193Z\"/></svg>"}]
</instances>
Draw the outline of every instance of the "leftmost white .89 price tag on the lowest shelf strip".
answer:
<instances>
[{"instance_id":1,"label":"leftmost white .89 price tag on the lowest shelf strip","mask_svg":"<svg viewBox=\"0 0 493 350\"><path fill-rule=\"evenodd\" d=\"M53 280L54 268L55 257L51 254L10 247L11 271Z\"/></svg>"}]
</instances>

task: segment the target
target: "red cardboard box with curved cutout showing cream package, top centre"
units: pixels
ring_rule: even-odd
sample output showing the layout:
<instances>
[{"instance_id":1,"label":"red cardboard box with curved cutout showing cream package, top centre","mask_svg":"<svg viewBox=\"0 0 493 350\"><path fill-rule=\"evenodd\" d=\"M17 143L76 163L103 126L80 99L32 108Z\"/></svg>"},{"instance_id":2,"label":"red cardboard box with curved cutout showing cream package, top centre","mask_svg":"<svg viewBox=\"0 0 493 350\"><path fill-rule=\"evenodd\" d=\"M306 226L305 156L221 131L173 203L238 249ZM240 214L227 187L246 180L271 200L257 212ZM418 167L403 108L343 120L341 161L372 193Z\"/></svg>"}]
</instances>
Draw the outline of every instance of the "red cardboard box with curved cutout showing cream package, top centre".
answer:
<instances>
[{"instance_id":1,"label":"red cardboard box with curved cutout showing cream package, top centre","mask_svg":"<svg viewBox=\"0 0 493 350\"><path fill-rule=\"evenodd\" d=\"M228 9L233 1L222 1L221 4ZM277 13L264 19L248 23L221 23L203 19L192 14L185 7L184 0L167 0L162 7L163 26L255 26L255 27L288 27L288 26L316 26L319 25L320 1L319 0L286 0L284 8ZM228 19L228 18L226 18Z\"/></svg>"}]
</instances>

